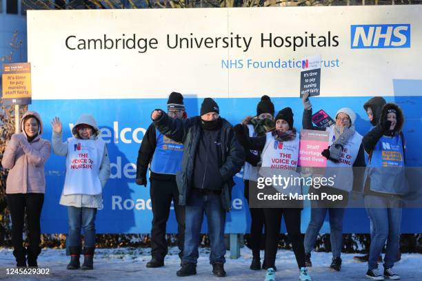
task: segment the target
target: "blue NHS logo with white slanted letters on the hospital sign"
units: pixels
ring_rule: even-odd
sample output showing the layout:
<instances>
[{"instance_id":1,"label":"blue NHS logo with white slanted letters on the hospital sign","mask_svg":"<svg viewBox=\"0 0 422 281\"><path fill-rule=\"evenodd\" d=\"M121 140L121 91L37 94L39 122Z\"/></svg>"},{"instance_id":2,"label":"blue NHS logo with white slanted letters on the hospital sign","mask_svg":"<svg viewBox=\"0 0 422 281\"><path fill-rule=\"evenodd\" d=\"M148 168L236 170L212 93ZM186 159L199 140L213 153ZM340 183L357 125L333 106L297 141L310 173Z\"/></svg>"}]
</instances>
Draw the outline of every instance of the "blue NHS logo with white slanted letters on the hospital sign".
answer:
<instances>
[{"instance_id":1,"label":"blue NHS logo with white slanted letters on the hospital sign","mask_svg":"<svg viewBox=\"0 0 422 281\"><path fill-rule=\"evenodd\" d=\"M350 25L352 49L410 48L410 24Z\"/></svg>"}]
</instances>

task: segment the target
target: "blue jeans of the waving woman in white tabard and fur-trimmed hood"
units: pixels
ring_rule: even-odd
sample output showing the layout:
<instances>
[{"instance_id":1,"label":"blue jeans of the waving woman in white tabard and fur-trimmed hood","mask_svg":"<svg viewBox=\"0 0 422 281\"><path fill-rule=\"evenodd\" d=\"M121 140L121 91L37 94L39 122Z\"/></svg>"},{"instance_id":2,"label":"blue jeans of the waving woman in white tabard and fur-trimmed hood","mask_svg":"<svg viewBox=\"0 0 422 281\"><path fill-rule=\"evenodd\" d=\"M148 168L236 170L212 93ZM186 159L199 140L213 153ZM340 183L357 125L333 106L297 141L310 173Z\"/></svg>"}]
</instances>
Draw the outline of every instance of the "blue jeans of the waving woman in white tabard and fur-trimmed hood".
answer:
<instances>
[{"instance_id":1,"label":"blue jeans of the waving woman in white tabard and fur-trimmed hood","mask_svg":"<svg viewBox=\"0 0 422 281\"><path fill-rule=\"evenodd\" d=\"M85 238L84 247L95 247L95 215L97 208L68 206L68 247L81 247L81 229Z\"/></svg>"}]
</instances>

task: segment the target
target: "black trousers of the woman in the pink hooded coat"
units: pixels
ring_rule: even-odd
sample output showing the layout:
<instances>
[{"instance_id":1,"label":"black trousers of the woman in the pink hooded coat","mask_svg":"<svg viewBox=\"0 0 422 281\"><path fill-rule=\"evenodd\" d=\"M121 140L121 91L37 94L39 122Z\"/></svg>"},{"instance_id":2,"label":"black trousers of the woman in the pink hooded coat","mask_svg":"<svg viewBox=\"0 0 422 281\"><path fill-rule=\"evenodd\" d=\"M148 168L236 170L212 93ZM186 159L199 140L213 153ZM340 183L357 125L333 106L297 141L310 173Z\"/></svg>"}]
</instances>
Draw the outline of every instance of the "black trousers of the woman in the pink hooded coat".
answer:
<instances>
[{"instance_id":1,"label":"black trousers of the woman in the pink hooded coat","mask_svg":"<svg viewBox=\"0 0 422 281\"><path fill-rule=\"evenodd\" d=\"M41 253L41 209L43 208L44 194L6 194L8 209L12 218L12 244L14 253L22 253L23 249L23 220L26 218L29 231L28 255L38 256Z\"/></svg>"}]
</instances>

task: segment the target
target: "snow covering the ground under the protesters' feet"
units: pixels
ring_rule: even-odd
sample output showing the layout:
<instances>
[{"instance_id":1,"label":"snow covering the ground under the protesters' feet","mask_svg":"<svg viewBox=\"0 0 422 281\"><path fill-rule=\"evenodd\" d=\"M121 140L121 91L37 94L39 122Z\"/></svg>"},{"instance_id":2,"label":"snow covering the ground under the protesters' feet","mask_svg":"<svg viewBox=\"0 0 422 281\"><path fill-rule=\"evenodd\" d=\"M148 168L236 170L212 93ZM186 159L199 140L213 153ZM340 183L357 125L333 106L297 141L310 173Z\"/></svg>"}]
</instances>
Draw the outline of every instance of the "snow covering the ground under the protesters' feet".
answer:
<instances>
[{"instance_id":1,"label":"snow covering the ground under the protesters' feet","mask_svg":"<svg viewBox=\"0 0 422 281\"><path fill-rule=\"evenodd\" d=\"M14 268L14 256L12 249L0 248L0 280L201 280L217 281L212 267L208 262L209 248L201 248L198 260L197 275L179 278L176 271L180 267L178 249L171 248L165 258L165 267L147 269L146 262L150 260L149 248L121 248L121 249L97 249L94 258L94 270L92 271L69 271L66 269L69 257L64 249L43 249L39 256L39 268L50 269L49 275L7 275L6 269ZM310 268L312 280L335 281L335 280L366 280L365 272L367 265L352 259L355 254L343 254L343 267L340 272L332 272L328 269L331 262L331 253L312 253ZM263 252L261 252L263 257ZM241 257L230 259L230 252L226 255L225 270L228 275L225 281L249 281L263 280L265 271L252 271L249 269L252 260L251 251L243 247ZM83 258L81 256L81 262ZM277 253L277 281L298 280L299 270L292 251L279 250ZM380 265L380 269L382 266ZM401 280L422 280L422 255L403 253L401 261L396 263L394 270L401 275Z\"/></svg>"}]
</instances>

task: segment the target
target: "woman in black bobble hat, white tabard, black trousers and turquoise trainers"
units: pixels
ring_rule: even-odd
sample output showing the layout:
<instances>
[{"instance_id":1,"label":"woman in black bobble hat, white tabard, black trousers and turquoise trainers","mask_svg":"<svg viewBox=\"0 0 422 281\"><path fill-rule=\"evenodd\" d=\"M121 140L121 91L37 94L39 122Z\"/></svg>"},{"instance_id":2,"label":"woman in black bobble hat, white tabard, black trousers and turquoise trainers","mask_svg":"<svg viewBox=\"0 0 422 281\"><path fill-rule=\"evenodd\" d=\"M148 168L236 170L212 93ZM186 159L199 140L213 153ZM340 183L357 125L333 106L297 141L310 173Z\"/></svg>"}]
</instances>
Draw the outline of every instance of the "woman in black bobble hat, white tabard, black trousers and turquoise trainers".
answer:
<instances>
[{"instance_id":1,"label":"woman in black bobble hat, white tabard, black trousers and turquoise trainers","mask_svg":"<svg viewBox=\"0 0 422 281\"><path fill-rule=\"evenodd\" d=\"M259 174L268 173L265 169L270 169L272 159L279 158L281 154L292 155L288 167L279 167L277 169L297 169L297 160L299 156L299 133L293 127L293 112L290 107L280 110L275 117L275 131L268 132L265 136L250 137L245 131L243 125L234 127L237 132L237 138L241 144L248 149L254 149L261 152L262 167ZM279 144L282 145L279 145ZM293 164L295 163L295 164ZM276 173L277 169L270 169L271 173ZM268 175L270 177L270 175ZM305 249L303 248L303 236L301 235L301 207L282 207L282 208L264 208L265 214L265 264L267 269L265 281L275 280L275 260L279 242L279 233L281 227L281 217L284 217L285 225L288 231L294 256L296 256L299 267L299 279L301 281L311 280L308 269L305 267Z\"/></svg>"}]
</instances>

